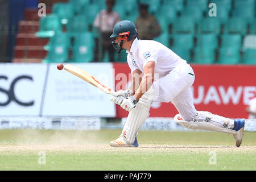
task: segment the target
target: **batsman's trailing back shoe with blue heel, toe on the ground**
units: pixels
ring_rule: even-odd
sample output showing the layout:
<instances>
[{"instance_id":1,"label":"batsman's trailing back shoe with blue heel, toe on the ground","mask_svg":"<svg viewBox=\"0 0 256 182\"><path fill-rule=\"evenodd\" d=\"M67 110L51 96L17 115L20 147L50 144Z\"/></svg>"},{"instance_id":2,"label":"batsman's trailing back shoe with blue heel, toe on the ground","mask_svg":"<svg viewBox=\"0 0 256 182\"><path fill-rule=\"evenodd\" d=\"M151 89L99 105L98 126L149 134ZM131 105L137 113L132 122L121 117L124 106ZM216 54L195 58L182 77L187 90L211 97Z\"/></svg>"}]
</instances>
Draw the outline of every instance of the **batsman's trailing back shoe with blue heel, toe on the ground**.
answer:
<instances>
[{"instance_id":1,"label":"batsman's trailing back shoe with blue heel, toe on the ground","mask_svg":"<svg viewBox=\"0 0 256 182\"><path fill-rule=\"evenodd\" d=\"M234 134L234 139L236 140L236 146L240 147L243 139L243 130L245 129L245 119L234 119L234 128L233 130L237 131L237 134Z\"/></svg>"}]
</instances>

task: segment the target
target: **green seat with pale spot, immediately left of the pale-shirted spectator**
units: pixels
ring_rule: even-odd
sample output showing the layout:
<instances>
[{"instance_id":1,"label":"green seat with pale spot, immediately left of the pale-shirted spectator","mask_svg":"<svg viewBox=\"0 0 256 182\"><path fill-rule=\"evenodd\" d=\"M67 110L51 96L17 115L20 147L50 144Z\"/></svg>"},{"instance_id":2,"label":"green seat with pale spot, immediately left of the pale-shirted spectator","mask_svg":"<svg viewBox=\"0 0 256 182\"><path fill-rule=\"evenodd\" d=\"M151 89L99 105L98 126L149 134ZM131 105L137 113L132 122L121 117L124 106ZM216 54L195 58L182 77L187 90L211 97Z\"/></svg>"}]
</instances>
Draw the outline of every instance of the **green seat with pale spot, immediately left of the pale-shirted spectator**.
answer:
<instances>
[{"instance_id":1,"label":"green seat with pale spot, immediately left of the pale-shirted spectator","mask_svg":"<svg viewBox=\"0 0 256 182\"><path fill-rule=\"evenodd\" d=\"M73 46L72 62L88 63L93 61L94 38L90 32L77 34Z\"/></svg>"}]
</instances>

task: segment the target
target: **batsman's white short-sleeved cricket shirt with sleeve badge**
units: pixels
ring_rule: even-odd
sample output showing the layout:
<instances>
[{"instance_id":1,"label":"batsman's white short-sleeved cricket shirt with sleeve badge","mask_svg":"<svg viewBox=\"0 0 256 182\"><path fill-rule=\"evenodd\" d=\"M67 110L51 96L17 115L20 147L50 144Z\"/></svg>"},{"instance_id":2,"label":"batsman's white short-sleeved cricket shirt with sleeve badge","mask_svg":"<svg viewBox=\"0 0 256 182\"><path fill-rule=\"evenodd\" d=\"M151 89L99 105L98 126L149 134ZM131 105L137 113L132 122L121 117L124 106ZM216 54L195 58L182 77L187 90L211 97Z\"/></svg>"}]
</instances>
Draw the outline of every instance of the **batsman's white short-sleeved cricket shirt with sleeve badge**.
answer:
<instances>
[{"instance_id":1,"label":"batsman's white short-sleeved cricket shirt with sleeve badge","mask_svg":"<svg viewBox=\"0 0 256 182\"><path fill-rule=\"evenodd\" d=\"M159 78L166 76L177 65L187 63L171 49L154 40L138 40L136 38L130 51L126 52L131 72L139 69L143 73L144 66L149 61L155 61L155 73L159 74Z\"/></svg>"}]
</instances>

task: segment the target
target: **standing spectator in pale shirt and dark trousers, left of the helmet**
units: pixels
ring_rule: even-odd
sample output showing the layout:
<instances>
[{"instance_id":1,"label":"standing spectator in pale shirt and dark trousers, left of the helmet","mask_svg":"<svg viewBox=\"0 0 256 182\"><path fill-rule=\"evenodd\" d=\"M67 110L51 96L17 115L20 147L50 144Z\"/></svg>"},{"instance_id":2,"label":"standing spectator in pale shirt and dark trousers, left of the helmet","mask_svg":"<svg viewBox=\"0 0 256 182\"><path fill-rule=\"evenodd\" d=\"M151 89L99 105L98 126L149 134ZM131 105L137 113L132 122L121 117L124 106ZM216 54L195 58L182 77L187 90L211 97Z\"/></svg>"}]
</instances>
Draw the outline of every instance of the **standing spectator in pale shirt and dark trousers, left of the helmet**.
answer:
<instances>
[{"instance_id":1,"label":"standing spectator in pale shirt and dark trousers, left of the helmet","mask_svg":"<svg viewBox=\"0 0 256 182\"><path fill-rule=\"evenodd\" d=\"M97 27L99 38L96 39L96 50L94 52L95 61L102 61L105 52L109 52L110 62L114 61L114 48L112 40L113 27L120 21L118 13L113 11L115 0L106 0L106 10L101 10L94 20L93 26Z\"/></svg>"}]
</instances>

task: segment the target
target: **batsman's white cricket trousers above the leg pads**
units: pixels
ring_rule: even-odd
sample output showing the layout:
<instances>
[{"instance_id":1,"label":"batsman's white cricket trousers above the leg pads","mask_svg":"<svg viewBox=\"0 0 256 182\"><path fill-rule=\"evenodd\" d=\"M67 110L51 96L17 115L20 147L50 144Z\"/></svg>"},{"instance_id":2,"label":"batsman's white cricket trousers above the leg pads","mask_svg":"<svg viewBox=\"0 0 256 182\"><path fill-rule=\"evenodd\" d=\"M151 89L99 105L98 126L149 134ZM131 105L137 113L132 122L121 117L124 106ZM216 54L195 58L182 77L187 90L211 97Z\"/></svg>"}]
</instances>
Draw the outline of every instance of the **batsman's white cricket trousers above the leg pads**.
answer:
<instances>
[{"instance_id":1,"label":"batsman's white cricket trousers above the leg pads","mask_svg":"<svg viewBox=\"0 0 256 182\"><path fill-rule=\"evenodd\" d=\"M191 86L195 73L191 66L183 63L174 68L168 75L153 83L154 102L172 102L185 121L192 121L196 116Z\"/></svg>"}]
</instances>

